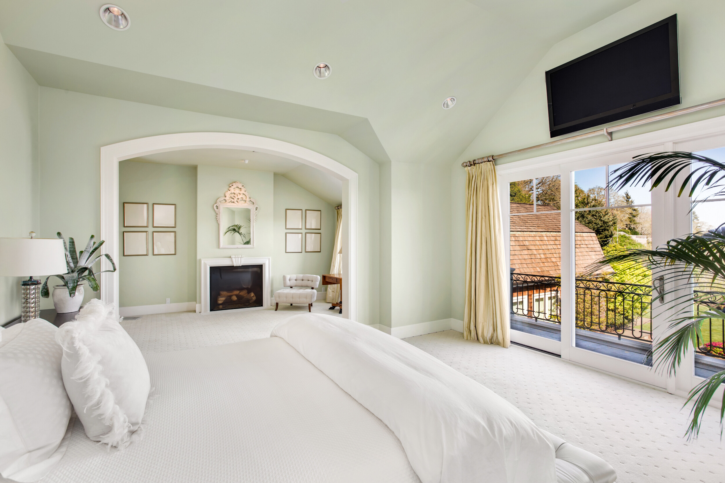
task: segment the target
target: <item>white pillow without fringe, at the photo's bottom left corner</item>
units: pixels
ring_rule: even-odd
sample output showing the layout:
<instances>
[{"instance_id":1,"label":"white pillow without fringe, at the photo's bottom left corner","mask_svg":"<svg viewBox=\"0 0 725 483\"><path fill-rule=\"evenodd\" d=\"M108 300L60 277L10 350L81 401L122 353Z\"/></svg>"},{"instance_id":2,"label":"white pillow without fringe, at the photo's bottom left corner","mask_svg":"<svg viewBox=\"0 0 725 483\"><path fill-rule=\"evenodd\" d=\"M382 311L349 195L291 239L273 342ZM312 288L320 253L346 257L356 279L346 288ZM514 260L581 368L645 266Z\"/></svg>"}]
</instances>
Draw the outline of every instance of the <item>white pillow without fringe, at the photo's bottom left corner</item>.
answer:
<instances>
[{"instance_id":1,"label":"white pillow without fringe, at the photo's bottom left corner","mask_svg":"<svg viewBox=\"0 0 725 483\"><path fill-rule=\"evenodd\" d=\"M33 319L2 331L0 474L17 482L35 482L48 474L65 453L72 431L57 330ZM10 335L14 337L5 338Z\"/></svg>"}]
</instances>

